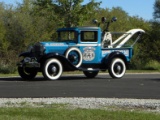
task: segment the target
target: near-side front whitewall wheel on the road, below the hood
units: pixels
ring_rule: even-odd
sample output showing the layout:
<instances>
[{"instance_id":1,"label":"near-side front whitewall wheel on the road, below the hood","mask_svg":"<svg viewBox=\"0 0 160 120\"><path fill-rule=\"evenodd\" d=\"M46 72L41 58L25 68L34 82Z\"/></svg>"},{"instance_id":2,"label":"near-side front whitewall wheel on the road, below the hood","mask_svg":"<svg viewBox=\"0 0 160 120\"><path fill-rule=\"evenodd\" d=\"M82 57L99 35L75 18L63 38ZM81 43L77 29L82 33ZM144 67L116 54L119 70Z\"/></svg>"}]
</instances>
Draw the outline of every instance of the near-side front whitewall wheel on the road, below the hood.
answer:
<instances>
[{"instance_id":1,"label":"near-side front whitewall wheel on the road, below the hood","mask_svg":"<svg viewBox=\"0 0 160 120\"><path fill-rule=\"evenodd\" d=\"M42 74L46 79L57 80L63 72L62 64L59 60L48 59L43 67Z\"/></svg>"}]
</instances>

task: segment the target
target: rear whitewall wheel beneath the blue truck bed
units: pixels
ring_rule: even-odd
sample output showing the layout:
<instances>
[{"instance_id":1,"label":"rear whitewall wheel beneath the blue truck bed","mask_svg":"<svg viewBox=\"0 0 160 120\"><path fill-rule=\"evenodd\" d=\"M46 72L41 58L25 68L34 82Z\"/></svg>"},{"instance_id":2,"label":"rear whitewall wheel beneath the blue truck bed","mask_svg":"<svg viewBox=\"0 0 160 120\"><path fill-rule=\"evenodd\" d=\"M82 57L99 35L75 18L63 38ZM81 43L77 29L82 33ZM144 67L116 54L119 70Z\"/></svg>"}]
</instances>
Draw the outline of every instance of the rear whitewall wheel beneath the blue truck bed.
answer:
<instances>
[{"instance_id":1,"label":"rear whitewall wheel beneath the blue truck bed","mask_svg":"<svg viewBox=\"0 0 160 120\"><path fill-rule=\"evenodd\" d=\"M108 72L112 78L122 78L126 72L126 65L120 58L115 58L109 65Z\"/></svg>"}]
</instances>

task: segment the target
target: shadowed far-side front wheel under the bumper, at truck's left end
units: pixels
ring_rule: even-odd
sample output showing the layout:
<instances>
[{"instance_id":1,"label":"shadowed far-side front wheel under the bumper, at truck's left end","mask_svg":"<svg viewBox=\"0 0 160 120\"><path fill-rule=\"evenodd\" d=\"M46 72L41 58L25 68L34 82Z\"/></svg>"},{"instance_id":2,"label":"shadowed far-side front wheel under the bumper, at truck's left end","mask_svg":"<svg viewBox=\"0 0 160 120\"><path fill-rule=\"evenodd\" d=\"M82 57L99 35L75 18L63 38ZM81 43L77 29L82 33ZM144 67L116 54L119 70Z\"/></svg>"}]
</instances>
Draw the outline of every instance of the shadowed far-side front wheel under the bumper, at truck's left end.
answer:
<instances>
[{"instance_id":1,"label":"shadowed far-side front wheel under the bumper, at truck's left end","mask_svg":"<svg viewBox=\"0 0 160 120\"><path fill-rule=\"evenodd\" d=\"M37 75L37 70L26 68L26 67L18 67L19 75L26 80L34 79Z\"/></svg>"}]
</instances>

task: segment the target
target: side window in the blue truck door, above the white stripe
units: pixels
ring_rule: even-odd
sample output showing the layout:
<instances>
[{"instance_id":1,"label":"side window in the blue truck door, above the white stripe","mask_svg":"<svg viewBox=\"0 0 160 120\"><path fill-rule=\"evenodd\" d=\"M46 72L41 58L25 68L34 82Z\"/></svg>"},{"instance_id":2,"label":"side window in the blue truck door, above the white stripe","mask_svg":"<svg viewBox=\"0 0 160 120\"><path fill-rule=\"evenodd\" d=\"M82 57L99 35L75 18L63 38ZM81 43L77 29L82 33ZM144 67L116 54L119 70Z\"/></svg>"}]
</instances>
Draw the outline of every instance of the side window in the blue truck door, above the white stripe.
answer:
<instances>
[{"instance_id":1,"label":"side window in the blue truck door, above the white stripe","mask_svg":"<svg viewBox=\"0 0 160 120\"><path fill-rule=\"evenodd\" d=\"M97 42L97 31L81 31L82 42Z\"/></svg>"}]
</instances>

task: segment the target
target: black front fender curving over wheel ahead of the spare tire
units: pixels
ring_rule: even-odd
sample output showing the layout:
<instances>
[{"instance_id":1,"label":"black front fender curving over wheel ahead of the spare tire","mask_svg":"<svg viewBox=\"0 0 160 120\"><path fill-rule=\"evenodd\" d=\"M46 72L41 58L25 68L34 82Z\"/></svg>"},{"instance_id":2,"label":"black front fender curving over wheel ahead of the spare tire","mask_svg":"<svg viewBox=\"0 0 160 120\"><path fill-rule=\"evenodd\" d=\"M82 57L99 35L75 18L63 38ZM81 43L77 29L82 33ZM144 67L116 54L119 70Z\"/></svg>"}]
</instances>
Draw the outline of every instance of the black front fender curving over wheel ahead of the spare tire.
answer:
<instances>
[{"instance_id":1,"label":"black front fender curving over wheel ahead of the spare tire","mask_svg":"<svg viewBox=\"0 0 160 120\"><path fill-rule=\"evenodd\" d=\"M48 53L42 56L42 58L39 60L39 62L41 63L41 67L43 67L45 61L50 58L58 59L62 63L64 71L65 70L71 70L71 71L78 70L65 56L60 55L58 53Z\"/></svg>"}]
</instances>

